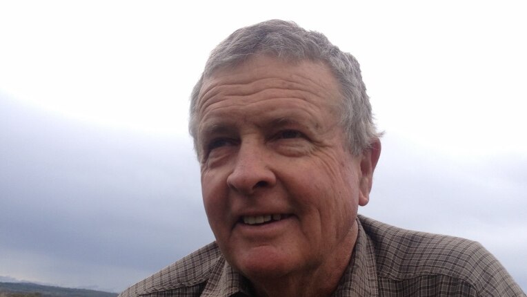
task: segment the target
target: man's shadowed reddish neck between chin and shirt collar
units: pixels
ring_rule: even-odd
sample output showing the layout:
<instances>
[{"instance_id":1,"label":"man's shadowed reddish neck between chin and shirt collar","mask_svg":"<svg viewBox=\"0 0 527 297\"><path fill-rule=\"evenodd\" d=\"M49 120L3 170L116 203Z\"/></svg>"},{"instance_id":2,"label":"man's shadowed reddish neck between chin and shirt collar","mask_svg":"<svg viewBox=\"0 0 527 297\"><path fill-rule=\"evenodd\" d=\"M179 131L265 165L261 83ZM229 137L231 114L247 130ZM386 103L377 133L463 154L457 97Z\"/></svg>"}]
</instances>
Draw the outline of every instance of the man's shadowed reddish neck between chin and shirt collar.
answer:
<instances>
[{"instance_id":1,"label":"man's shadowed reddish neck between chin and shirt collar","mask_svg":"<svg viewBox=\"0 0 527 297\"><path fill-rule=\"evenodd\" d=\"M331 296L348 267L357 241L357 231L358 227L355 223L341 245L326 257L322 265L310 271L276 278L249 278L255 296Z\"/></svg>"}]
</instances>

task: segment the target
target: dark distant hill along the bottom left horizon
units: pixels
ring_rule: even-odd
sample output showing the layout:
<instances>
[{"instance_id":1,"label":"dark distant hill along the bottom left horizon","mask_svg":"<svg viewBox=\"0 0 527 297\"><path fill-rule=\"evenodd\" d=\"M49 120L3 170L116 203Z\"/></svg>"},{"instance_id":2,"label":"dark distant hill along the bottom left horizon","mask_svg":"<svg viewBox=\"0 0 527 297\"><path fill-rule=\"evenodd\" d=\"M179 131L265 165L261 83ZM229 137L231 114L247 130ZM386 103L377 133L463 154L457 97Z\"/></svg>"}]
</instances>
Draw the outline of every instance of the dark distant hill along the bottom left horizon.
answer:
<instances>
[{"instance_id":1,"label":"dark distant hill along the bottom left horizon","mask_svg":"<svg viewBox=\"0 0 527 297\"><path fill-rule=\"evenodd\" d=\"M70 289L32 284L30 282L0 282L0 297L115 297L116 293L88 289Z\"/></svg>"}]
</instances>

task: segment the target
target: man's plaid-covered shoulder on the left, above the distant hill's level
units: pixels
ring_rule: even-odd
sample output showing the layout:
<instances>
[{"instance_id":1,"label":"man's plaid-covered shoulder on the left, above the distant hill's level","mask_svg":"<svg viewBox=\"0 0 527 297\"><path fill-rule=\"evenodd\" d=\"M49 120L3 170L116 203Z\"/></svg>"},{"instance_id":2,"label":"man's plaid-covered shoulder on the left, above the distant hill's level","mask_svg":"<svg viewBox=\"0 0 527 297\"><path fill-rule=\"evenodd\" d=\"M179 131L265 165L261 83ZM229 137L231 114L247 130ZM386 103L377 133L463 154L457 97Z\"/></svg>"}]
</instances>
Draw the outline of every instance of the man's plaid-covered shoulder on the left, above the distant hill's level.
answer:
<instances>
[{"instance_id":1,"label":"man's plaid-covered shoulder on the left, above the distant hill's level","mask_svg":"<svg viewBox=\"0 0 527 297\"><path fill-rule=\"evenodd\" d=\"M187 290L188 293L203 290L217 265L223 265L223 256L215 242L190 253L156 274L137 282L119 297L148 296L159 291ZM174 292L175 293L175 292ZM174 294L177 296L177 294ZM190 295L189 295L190 296Z\"/></svg>"}]
</instances>

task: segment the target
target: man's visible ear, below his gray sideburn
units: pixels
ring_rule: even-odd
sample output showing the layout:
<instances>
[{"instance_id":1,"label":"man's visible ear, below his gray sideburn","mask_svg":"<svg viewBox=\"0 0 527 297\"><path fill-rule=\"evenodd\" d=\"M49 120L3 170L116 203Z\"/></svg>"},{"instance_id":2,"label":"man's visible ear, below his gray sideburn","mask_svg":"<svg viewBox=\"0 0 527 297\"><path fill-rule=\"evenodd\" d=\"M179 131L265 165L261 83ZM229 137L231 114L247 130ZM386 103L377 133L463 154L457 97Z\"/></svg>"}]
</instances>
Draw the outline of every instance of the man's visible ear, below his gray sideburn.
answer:
<instances>
[{"instance_id":1,"label":"man's visible ear, below his gray sideburn","mask_svg":"<svg viewBox=\"0 0 527 297\"><path fill-rule=\"evenodd\" d=\"M372 189L373 171L381 155L381 141L379 139L372 143L370 148L364 150L361 155L361 176L360 176L360 196L359 205L364 207L370 201L370 191Z\"/></svg>"}]
</instances>

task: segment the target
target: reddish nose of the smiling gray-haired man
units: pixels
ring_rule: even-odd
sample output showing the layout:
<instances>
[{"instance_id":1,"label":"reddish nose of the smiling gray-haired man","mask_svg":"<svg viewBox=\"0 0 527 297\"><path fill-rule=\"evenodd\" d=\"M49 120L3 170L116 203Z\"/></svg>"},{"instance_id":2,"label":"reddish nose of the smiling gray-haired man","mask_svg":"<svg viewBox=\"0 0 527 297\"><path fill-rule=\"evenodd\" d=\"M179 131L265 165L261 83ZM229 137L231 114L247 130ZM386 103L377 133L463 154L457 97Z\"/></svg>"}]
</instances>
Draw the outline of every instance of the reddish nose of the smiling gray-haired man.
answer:
<instances>
[{"instance_id":1,"label":"reddish nose of the smiling gray-haired man","mask_svg":"<svg viewBox=\"0 0 527 297\"><path fill-rule=\"evenodd\" d=\"M227 178L227 184L243 195L251 195L259 189L276 184L275 173L270 169L272 160L262 144L242 143L235 159L235 166Z\"/></svg>"}]
</instances>

